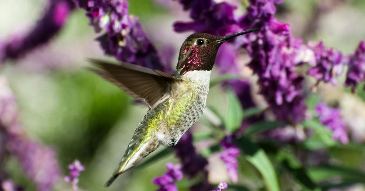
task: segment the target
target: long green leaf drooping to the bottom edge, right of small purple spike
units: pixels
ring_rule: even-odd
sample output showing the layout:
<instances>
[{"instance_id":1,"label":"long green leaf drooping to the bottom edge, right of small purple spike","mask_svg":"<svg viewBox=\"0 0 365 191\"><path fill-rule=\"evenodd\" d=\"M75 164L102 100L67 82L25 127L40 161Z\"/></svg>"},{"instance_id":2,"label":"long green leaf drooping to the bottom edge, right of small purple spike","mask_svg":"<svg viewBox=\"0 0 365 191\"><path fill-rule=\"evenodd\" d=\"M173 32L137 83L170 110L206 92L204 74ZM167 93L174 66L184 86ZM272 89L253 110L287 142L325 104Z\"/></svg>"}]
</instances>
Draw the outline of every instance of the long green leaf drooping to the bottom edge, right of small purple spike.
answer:
<instances>
[{"instance_id":1,"label":"long green leaf drooping to the bottom edge, right of small purple spike","mask_svg":"<svg viewBox=\"0 0 365 191\"><path fill-rule=\"evenodd\" d=\"M237 145L246 154L245 158L260 172L265 186L269 191L279 191L279 183L274 167L265 151L258 148L253 142L245 137L237 141Z\"/></svg>"}]
</instances>

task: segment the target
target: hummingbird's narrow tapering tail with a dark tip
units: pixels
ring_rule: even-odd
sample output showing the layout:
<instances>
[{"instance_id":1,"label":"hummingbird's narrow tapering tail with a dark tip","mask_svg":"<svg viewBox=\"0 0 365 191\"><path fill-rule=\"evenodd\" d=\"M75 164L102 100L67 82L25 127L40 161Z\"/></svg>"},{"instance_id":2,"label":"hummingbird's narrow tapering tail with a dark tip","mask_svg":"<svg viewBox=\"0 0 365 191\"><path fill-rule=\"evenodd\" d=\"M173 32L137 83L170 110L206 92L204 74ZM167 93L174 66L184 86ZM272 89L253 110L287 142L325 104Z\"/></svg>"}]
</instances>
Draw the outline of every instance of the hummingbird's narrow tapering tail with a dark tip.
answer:
<instances>
[{"instance_id":1,"label":"hummingbird's narrow tapering tail with a dark tip","mask_svg":"<svg viewBox=\"0 0 365 191\"><path fill-rule=\"evenodd\" d=\"M138 139L133 136L122 160L120 160L118 167L115 169L110 179L104 184L104 187L110 186L121 173L126 172L142 160L142 158L158 148L157 140L151 138L143 141L139 140L141 142L137 140Z\"/></svg>"}]
</instances>

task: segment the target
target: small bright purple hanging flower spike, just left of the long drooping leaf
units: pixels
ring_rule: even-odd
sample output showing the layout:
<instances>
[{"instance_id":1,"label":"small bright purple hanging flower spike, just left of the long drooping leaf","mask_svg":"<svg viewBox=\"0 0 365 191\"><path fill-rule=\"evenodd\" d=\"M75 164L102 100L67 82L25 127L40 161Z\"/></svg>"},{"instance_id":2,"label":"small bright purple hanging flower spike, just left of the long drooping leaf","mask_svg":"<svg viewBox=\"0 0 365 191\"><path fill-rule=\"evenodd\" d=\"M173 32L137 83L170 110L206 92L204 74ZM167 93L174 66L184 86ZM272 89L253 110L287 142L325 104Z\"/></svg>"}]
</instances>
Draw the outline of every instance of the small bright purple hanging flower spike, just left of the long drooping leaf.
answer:
<instances>
[{"instance_id":1,"label":"small bright purple hanging flower spike, just left of the long drooping leaf","mask_svg":"<svg viewBox=\"0 0 365 191\"><path fill-rule=\"evenodd\" d=\"M233 183L238 181L238 160L239 148L234 145L234 136L226 136L220 141L220 145L223 147L224 151L220 152L220 159L226 164L226 170L228 176Z\"/></svg>"}]
</instances>

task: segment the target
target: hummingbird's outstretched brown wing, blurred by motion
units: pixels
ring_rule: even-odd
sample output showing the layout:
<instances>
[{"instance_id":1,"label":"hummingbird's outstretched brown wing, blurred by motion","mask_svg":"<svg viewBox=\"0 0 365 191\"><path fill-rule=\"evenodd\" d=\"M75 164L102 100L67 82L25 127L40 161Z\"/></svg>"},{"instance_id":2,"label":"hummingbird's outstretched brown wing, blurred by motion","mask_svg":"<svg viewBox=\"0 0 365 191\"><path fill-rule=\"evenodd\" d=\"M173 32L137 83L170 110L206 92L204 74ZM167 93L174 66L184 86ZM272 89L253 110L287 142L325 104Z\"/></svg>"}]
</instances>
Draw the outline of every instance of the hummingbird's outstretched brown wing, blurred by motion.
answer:
<instances>
[{"instance_id":1,"label":"hummingbird's outstretched brown wing, blurred by motion","mask_svg":"<svg viewBox=\"0 0 365 191\"><path fill-rule=\"evenodd\" d=\"M129 95L142 99L148 106L154 107L170 89L175 81L168 73L152 70L128 63L111 64L106 61L89 59L99 69L91 69L105 80L123 89Z\"/></svg>"}]
</instances>

